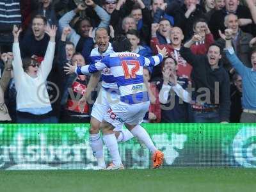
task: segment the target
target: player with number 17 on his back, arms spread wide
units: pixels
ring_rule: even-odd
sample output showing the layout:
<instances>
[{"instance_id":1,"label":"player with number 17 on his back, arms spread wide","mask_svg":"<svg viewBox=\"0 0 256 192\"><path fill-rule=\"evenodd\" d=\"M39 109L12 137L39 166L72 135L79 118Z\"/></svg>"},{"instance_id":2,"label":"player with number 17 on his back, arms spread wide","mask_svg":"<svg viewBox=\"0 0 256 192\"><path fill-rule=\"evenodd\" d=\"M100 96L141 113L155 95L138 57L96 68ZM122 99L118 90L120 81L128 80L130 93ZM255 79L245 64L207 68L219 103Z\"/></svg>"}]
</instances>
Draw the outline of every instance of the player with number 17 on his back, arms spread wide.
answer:
<instances>
[{"instance_id":1,"label":"player with number 17 on his back, arms spread wide","mask_svg":"<svg viewBox=\"0 0 256 192\"><path fill-rule=\"evenodd\" d=\"M120 102L111 105L111 108L104 115L104 120L100 123L103 133L103 140L113 159L107 169L123 169L124 165L120 159L118 145L113 129L125 126L153 153L153 166L158 168L163 163L163 153L157 150L150 139L148 133L140 126L141 120L148 111L148 93L143 83L143 66L158 65L167 55L166 48L159 49L159 54L148 59L131 51L131 43L125 36L119 36L113 42L114 53L105 56L94 65L86 65L82 68L67 64L65 72L67 74L76 72L77 74L95 73L104 68L110 68L115 78L118 90L120 91Z\"/></svg>"}]
</instances>

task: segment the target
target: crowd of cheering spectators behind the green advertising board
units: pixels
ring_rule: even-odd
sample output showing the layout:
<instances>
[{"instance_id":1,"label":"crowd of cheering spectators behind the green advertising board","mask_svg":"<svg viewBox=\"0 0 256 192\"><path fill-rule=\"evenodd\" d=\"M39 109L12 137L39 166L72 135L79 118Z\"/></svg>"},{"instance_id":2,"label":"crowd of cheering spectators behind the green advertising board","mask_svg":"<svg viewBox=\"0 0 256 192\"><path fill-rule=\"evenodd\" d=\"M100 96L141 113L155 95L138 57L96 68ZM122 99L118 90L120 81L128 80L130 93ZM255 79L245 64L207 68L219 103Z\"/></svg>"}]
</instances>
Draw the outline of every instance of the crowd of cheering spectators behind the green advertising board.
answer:
<instances>
[{"instance_id":1,"label":"crowd of cheering spectators behind the green advertising board","mask_svg":"<svg viewBox=\"0 0 256 192\"><path fill-rule=\"evenodd\" d=\"M255 0L0 2L0 121L90 122L100 76L63 67L92 63L118 35L145 57L168 51L143 68L145 122L256 122Z\"/></svg>"}]
</instances>

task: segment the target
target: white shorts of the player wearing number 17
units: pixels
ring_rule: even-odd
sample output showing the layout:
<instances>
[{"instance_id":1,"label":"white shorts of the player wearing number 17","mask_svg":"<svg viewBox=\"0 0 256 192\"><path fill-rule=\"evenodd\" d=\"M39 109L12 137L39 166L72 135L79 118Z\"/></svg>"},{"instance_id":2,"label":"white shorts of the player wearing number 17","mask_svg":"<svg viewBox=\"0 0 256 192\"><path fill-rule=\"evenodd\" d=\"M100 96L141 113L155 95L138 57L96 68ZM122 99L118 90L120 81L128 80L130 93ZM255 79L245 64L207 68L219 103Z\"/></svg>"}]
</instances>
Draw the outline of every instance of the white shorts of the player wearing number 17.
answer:
<instances>
[{"instance_id":1,"label":"white shorts of the player wearing number 17","mask_svg":"<svg viewBox=\"0 0 256 192\"><path fill-rule=\"evenodd\" d=\"M143 121L148 108L149 101L132 105L119 102L118 104L111 105L104 116L104 120L114 127L122 127L124 123L138 125Z\"/></svg>"}]
</instances>

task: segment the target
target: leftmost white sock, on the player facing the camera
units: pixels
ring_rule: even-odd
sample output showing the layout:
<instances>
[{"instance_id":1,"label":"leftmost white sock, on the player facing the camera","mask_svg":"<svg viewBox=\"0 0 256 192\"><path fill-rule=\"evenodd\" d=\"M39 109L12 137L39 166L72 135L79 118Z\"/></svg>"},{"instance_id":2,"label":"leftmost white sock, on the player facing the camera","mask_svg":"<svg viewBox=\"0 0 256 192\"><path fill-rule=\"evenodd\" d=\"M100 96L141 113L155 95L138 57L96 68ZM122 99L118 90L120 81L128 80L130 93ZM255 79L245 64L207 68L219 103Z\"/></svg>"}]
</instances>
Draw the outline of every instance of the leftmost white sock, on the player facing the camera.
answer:
<instances>
[{"instance_id":1,"label":"leftmost white sock, on the player facing the camera","mask_svg":"<svg viewBox=\"0 0 256 192\"><path fill-rule=\"evenodd\" d=\"M106 168L105 159L103 156L103 143L100 139L100 134L90 134L90 146L92 148L93 156L96 157L98 166Z\"/></svg>"}]
</instances>

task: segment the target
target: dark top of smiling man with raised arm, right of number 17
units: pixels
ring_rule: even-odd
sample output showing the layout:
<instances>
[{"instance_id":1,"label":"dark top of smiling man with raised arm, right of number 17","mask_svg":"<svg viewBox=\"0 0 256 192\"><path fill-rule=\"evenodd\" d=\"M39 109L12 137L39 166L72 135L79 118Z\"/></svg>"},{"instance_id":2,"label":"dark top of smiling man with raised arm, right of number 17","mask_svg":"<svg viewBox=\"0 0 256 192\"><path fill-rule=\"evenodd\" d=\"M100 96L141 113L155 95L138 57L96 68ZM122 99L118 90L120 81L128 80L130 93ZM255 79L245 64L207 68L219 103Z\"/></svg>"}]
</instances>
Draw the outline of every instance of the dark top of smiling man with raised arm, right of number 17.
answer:
<instances>
[{"instance_id":1,"label":"dark top of smiling man with raised arm, right of number 17","mask_svg":"<svg viewBox=\"0 0 256 192\"><path fill-rule=\"evenodd\" d=\"M189 48L182 47L180 54L193 66L191 79L195 91L192 92L192 99L196 102L198 99L205 100L205 102L210 99L210 104L220 104L221 122L228 122L230 116L230 81L227 71L221 65L212 70L206 55L195 55ZM208 92L210 97L207 96Z\"/></svg>"}]
</instances>

